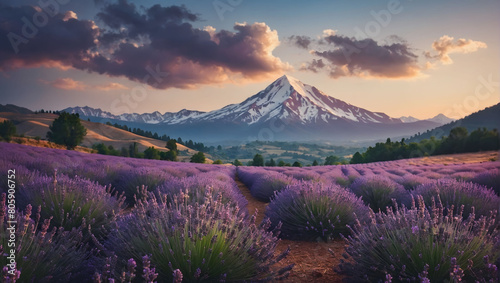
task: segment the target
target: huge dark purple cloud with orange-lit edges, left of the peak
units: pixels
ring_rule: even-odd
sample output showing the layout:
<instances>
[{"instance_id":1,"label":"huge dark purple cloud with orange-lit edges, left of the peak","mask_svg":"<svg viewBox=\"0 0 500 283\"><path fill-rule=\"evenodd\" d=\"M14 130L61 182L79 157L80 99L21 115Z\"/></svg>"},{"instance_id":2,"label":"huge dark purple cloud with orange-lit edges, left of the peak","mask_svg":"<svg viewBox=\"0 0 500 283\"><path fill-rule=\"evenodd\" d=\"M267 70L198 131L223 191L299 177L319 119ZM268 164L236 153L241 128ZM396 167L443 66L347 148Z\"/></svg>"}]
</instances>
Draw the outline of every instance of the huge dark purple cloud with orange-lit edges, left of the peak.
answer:
<instances>
[{"instance_id":1,"label":"huge dark purple cloud with orange-lit edges, left of the peak","mask_svg":"<svg viewBox=\"0 0 500 283\"><path fill-rule=\"evenodd\" d=\"M216 31L193 27L200 16L184 6L139 9L126 0L102 4L97 15L101 27L76 14L57 14L19 44L18 54L0 43L0 71L72 67L167 89L267 79L291 68L272 54L280 41L265 23L236 23L232 31ZM0 36L21 34L19 19L36 12L1 7L0 18L6 20Z\"/></svg>"}]
</instances>

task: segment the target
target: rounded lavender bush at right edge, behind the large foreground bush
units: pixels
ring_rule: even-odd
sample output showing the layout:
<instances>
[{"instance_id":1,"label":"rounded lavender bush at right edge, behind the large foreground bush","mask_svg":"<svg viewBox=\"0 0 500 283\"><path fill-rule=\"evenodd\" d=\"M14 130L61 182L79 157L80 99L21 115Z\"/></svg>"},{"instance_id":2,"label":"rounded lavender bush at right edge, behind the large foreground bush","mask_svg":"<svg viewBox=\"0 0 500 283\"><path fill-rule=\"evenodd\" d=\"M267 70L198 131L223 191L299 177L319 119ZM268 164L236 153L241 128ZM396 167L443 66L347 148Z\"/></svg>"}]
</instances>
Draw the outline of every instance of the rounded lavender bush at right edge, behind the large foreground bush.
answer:
<instances>
[{"instance_id":1,"label":"rounded lavender bush at right edge, behind the large foreground bush","mask_svg":"<svg viewBox=\"0 0 500 283\"><path fill-rule=\"evenodd\" d=\"M456 181L454 179L441 179L417 187L412 194L421 195L427 206L439 198L445 208L459 209L464 206L464 217L469 217L473 207L475 215L489 215L490 211L498 210L500 197L493 190L478 184Z\"/></svg>"}]
</instances>

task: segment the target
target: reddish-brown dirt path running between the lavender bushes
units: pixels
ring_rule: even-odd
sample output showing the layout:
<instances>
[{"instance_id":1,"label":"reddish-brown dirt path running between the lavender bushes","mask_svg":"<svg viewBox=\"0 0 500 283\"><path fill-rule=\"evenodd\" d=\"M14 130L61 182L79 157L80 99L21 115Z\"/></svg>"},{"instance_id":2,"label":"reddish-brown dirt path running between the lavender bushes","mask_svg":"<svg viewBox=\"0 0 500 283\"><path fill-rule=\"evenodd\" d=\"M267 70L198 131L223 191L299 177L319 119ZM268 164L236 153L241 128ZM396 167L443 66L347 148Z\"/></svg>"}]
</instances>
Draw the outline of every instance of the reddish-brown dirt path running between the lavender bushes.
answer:
<instances>
[{"instance_id":1,"label":"reddish-brown dirt path running between the lavender bushes","mask_svg":"<svg viewBox=\"0 0 500 283\"><path fill-rule=\"evenodd\" d=\"M255 209L258 210L255 223L260 224L264 219L267 203L252 197L250 190L237 177L235 181L248 200L248 212L253 214ZM334 272L333 267L340 263L344 245L343 240L329 243L280 240L278 252L284 251L288 246L291 249L290 254L279 263L279 266L295 263L290 276L283 282L341 282L344 277ZM331 249L335 256L328 249Z\"/></svg>"}]
</instances>

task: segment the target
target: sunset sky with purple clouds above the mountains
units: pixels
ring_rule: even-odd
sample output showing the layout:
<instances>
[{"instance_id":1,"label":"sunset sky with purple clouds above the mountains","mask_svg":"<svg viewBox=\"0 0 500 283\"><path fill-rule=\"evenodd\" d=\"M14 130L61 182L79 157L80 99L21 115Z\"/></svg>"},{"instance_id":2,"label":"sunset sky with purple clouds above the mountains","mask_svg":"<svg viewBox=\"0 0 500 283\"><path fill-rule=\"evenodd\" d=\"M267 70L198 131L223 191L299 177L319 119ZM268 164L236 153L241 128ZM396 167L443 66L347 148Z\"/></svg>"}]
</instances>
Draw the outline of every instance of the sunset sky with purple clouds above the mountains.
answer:
<instances>
[{"instance_id":1,"label":"sunset sky with purple clouds above the mountains","mask_svg":"<svg viewBox=\"0 0 500 283\"><path fill-rule=\"evenodd\" d=\"M500 1L2 0L0 103L210 111L291 75L391 117L500 101Z\"/></svg>"}]
</instances>

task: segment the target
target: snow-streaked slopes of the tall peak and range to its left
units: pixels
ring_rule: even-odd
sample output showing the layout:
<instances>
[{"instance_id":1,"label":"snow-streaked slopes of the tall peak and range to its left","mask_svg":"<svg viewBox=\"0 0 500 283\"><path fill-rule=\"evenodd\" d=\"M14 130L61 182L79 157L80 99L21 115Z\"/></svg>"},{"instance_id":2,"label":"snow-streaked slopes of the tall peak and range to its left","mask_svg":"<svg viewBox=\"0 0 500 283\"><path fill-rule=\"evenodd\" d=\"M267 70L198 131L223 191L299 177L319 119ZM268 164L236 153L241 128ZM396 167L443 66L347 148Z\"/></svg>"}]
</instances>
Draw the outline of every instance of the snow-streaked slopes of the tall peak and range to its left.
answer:
<instances>
[{"instance_id":1,"label":"snow-streaked slopes of the tall peak and range to its left","mask_svg":"<svg viewBox=\"0 0 500 283\"><path fill-rule=\"evenodd\" d=\"M163 115L158 111L145 114L113 115L90 107L67 108L65 111L79 113L82 116L167 125L221 121L255 125L273 119L303 125L331 123L337 120L363 124L402 123L400 119L391 118L384 113L371 112L328 96L316 87L304 84L288 75L278 78L266 89L239 104L227 105L210 112L184 109Z\"/></svg>"}]
</instances>

